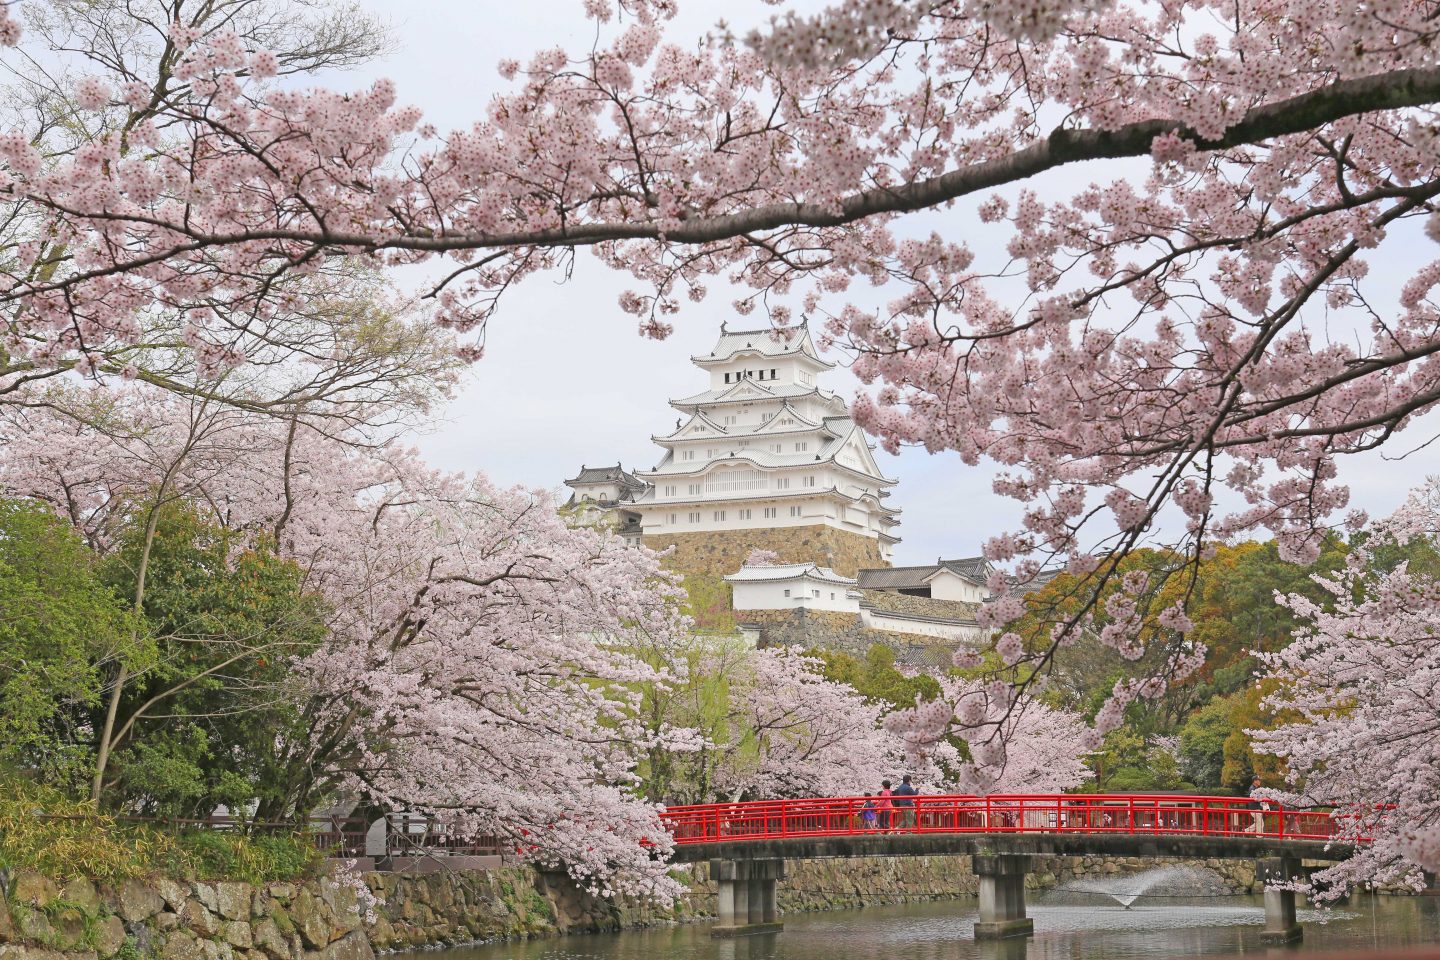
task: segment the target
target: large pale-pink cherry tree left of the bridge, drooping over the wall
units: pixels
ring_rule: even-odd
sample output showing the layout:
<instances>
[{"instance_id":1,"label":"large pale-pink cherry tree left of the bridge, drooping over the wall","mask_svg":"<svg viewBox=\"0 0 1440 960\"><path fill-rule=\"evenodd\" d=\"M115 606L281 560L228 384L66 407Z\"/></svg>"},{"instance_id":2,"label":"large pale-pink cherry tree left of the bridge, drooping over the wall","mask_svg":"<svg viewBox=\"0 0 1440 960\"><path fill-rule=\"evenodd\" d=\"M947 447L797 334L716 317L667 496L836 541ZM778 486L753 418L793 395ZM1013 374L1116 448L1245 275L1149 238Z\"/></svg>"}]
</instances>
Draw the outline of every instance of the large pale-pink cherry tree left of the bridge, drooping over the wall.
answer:
<instances>
[{"instance_id":1,"label":"large pale-pink cherry tree left of the bridge, drooping over the wall","mask_svg":"<svg viewBox=\"0 0 1440 960\"><path fill-rule=\"evenodd\" d=\"M304 569L327 638L292 662L301 723L275 753L301 776L264 813L363 793L503 836L596 889L674 892L668 835L632 793L648 735L626 692L660 676L625 651L685 629L655 554L566 527L543 494L330 436L327 420L225 406L196 439L192 403L120 391L108 430L10 410L0 471L95 543L131 489L168 472L171 495ZM187 452L153 456L171 445Z\"/></svg>"}]
</instances>

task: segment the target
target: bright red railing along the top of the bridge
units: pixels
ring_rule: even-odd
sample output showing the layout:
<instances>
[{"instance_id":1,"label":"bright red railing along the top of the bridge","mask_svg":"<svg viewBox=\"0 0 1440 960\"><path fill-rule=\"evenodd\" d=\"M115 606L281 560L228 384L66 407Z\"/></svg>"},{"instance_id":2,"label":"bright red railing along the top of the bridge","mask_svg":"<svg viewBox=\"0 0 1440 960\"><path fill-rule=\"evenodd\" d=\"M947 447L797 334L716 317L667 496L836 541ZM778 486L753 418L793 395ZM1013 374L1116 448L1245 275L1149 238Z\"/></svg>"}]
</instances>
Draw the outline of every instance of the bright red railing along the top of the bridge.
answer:
<instances>
[{"instance_id":1,"label":"bright red railing along the top of the bridge","mask_svg":"<svg viewBox=\"0 0 1440 960\"><path fill-rule=\"evenodd\" d=\"M664 820L675 843L855 836L870 833L1149 833L1328 841L1341 815L1290 810L1246 797L1175 794L916 796L913 807L876 797L752 800L672 806ZM867 807L865 805L870 803ZM867 816L873 813L874 816Z\"/></svg>"}]
</instances>

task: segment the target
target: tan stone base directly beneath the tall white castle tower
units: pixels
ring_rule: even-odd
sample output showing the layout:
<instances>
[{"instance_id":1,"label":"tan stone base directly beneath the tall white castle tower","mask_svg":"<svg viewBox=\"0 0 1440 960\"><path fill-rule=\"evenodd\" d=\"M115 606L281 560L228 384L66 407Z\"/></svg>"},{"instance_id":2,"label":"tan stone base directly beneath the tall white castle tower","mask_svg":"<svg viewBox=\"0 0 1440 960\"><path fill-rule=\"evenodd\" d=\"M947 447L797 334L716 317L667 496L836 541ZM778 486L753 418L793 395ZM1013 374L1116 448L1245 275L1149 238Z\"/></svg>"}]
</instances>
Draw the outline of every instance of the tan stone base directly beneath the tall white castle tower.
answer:
<instances>
[{"instance_id":1,"label":"tan stone base directly beneath the tall white castle tower","mask_svg":"<svg viewBox=\"0 0 1440 960\"><path fill-rule=\"evenodd\" d=\"M752 550L773 550L780 563L815 561L842 577L852 577L861 567L888 567L880 558L880 541L825 524L809 527L769 527L763 530L710 530L693 534L651 534L641 538L651 550L675 553L665 566L678 573L716 577L734 573Z\"/></svg>"}]
</instances>

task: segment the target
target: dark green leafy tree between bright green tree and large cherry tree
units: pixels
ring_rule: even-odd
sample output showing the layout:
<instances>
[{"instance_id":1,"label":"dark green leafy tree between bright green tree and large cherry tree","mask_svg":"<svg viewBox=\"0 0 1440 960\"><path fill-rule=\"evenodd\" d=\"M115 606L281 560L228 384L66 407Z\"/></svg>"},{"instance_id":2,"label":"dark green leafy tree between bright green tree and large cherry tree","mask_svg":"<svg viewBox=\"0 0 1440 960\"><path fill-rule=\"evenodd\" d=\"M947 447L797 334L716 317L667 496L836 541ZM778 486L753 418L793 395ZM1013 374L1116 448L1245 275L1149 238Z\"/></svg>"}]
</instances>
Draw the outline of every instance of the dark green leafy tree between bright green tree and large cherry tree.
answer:
<instances>
[{"instance_id":1,"label":"dark green leafy tree between bright green tree and large cherry tree","mask_svg":"<svg viewBox=\"0 0 1440 960\"><path fill-rule=\"evenodd\" d=\"M118 592L134 590L143 535L127 531L105 564ZM120 702L111 803L204 815L253 800L266 816L292 813L305 771L284 761L301 701L289 665L325 636L304 571L170 504L150 538L143 613L156 661Z\"/></svg>"}]
</instances>

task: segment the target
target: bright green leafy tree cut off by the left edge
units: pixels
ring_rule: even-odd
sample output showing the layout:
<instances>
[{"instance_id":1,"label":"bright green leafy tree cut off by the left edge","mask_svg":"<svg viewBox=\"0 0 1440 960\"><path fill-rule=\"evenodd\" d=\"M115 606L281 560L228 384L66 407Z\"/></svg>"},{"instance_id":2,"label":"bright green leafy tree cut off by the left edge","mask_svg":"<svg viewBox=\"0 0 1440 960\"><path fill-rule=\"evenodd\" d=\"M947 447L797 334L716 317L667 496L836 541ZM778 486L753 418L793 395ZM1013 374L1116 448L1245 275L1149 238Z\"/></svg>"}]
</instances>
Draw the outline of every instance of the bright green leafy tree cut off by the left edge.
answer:
<instances>
[{"instance_id":1,"label":"bright green leafy tree cut off by the left edge","mask_svg":"<svg viewBox=\"0 0 1440 960\"><path fill-rule=\"evenodd\" d=\"M130 635L69 524L0 499L0 763L75 789L91 763L78 718L101 701L101 664L144 656Z\"/></svg>"}]
</instances>

